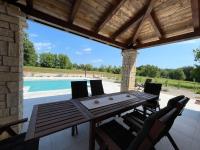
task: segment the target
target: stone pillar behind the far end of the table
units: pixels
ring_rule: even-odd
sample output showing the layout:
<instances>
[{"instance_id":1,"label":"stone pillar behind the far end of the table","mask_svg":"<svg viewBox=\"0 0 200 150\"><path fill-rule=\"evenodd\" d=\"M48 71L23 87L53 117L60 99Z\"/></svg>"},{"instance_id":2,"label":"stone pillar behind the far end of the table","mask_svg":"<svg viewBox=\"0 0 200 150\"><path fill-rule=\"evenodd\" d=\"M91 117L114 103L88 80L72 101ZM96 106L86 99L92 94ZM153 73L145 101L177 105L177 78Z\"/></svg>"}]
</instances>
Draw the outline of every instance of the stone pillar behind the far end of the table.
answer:
<instances>
[{"instance_id":1,"label":"stone pillar behind the far end of the table","mask_svg":"<svg viewBox=\"0 0 200 150\"><path fill-rule=\"evenodd\" d=\"M121 92L125 92L135 89L137 51L135 49L122 50L122 56Z\"/></svg>"}]
</instances>

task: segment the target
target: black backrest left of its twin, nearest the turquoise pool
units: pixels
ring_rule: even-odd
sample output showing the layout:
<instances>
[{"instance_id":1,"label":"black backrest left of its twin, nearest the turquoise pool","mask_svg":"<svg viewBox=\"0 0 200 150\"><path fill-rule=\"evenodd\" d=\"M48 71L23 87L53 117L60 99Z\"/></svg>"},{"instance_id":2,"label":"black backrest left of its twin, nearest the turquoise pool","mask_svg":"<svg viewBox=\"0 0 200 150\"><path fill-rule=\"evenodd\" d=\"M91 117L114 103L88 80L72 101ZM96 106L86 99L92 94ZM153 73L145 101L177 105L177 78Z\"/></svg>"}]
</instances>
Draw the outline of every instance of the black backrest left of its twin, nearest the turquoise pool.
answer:
<instances>
[{"instance_id":1,"label":"black backrest left of its twin, nearest the turquoise pool","mask_svg":"<svg viewBox=\"0 0 200 150\"><path fill-rule=\"evenodd\" d=\"M72 99L88 97L87 81L71 81Z\"/></svg>"}]
</instances>

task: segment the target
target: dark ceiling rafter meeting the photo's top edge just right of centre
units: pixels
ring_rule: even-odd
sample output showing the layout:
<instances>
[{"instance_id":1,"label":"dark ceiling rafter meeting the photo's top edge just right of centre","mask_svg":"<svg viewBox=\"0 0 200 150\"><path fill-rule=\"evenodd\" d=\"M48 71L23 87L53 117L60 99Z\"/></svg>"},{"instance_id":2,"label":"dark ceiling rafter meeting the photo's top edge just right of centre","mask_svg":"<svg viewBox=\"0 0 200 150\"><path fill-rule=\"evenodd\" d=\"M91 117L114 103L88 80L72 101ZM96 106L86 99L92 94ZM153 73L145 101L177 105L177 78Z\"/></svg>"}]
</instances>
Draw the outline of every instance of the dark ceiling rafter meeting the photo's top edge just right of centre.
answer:
<instances>
[{"instance_id":1,"label":"dark ceiling rafter meeting the photo's top edge just right of centre","mask_svg":"<svg viewBox=\"0 0 200 150\"><path fill-rule=\"evenodd\" d=\"M116 12L121 8L121 6L126 2L126 0L118 0L111 8L109 8L105 14L102 16L100 21L95 27L95 32L99 32L105 24L116 14Z\"/></svg>"}]
</instances>

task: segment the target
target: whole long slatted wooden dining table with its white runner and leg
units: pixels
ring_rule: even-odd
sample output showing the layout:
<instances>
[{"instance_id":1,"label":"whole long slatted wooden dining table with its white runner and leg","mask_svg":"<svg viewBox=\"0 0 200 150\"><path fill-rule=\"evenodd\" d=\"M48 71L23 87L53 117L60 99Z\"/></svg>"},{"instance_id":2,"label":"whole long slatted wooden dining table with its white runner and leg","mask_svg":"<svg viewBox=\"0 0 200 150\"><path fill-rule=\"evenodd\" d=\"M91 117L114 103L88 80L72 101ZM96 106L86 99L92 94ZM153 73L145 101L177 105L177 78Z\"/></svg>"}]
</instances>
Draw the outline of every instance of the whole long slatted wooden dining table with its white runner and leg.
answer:
<instances>
[{"instance_id":1,"label":"whole long slatted wooden dining table with its white runner and leg","mask_svg":"<svg viewBox=\"0 0 200 150\"><path fill-rule=\"evenodd\" d=\"M89 150L94 150L98 122L129 111L156 97L148 93L129 91L35 105L25 141L89 122Z\"/></svg>"}]
</instances>

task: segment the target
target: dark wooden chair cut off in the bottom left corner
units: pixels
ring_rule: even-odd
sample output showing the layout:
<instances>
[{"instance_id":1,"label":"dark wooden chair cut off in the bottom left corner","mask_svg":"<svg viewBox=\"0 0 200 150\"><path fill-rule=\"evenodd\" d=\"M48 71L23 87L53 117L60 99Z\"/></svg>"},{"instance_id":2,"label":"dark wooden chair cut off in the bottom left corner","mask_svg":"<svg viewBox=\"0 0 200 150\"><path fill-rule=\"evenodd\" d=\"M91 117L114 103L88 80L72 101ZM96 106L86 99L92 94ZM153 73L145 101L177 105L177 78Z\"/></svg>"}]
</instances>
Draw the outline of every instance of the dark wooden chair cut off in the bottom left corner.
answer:
<instances>
[{"instance_id":1,"label":"dark wooden chair cut off in the bottom left corner","mask_svg":"<svg viewBox=\"0 0 200 150\"><path fill-rule=\"evenodd\" d=\"M12 127L19 123L24 123L28 119L21 119L10 122L8 124L0 125L0 134L7 132L9 138L0 141L0 150L38 150L39 139L24 141L26 133L17 134Z\"/></svg>"}]
</instances>

